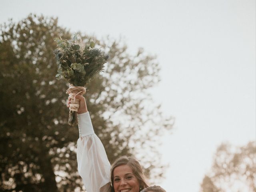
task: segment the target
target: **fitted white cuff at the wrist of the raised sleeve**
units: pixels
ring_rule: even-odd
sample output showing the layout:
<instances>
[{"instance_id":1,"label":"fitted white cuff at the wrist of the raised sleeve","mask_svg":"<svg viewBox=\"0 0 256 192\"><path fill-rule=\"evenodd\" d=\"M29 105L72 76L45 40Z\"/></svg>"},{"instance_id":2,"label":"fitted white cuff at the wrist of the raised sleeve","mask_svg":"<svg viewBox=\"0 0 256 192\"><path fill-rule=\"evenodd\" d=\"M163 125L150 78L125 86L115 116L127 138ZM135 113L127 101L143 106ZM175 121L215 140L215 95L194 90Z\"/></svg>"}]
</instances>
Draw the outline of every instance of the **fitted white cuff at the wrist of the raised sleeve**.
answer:
<instances>
[{"instance_id":1,"label":"fitted white cuff at the wrist of the raised sleeve","mask_svg":"<svg viewBox=\"0 0 256 192\"><path fill-rule=\"evenodd\" d=\"M89 112L78 114L79 137L94 134Z\"/></svg>"}]
</instances>

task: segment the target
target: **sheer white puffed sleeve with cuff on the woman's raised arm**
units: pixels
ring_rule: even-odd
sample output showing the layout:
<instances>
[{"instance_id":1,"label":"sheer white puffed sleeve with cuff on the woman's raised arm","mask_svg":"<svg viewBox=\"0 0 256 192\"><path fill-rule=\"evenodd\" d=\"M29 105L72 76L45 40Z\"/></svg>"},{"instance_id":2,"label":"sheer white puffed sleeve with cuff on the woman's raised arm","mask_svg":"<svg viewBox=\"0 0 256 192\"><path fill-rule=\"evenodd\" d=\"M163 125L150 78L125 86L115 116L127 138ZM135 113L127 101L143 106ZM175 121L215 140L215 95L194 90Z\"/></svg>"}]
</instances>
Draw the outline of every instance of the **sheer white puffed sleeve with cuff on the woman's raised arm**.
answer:
<instances>
[{"instance_id":1,"label":"sheer white puffed sleeve with cuff on the woman's raised arm","mask_svg":"<svg viewBox=\"0 0 256 192\"><path fill-rule=\"evenodd\" d=\"M89 112L78 115L78 173L87 192L111 192L110 163L104 146L94 134Z\"/></svg>"}]
</instances>

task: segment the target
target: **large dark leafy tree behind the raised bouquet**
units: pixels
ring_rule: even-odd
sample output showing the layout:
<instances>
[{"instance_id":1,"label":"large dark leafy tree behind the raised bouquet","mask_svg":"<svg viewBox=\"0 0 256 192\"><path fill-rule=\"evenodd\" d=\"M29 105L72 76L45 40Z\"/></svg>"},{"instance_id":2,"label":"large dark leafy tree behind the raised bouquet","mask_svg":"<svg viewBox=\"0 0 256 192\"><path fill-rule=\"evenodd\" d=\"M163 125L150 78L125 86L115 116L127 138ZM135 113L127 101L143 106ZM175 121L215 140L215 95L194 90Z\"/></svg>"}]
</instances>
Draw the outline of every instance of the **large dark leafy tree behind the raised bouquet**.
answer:
<instances>
[{"instance_id":1,"label":"large dark leafy tree behind the raised bouquet","mask_svg":"<svg viewBox=\"0 0 256 192\"><path fill-rule=\"evenodd\" d=\"M71 38L57 18L30 14L1 25L0 191L82 190L76 168L78 129L67 125L67 84L55 79L53 38L58 36ZM128 54L122 40L81 36L85 42L93 38L111 58L86 93L110 162L134 155L149 177L162 178L164 165L155 158L160 156L156 146L173 118L163 118L147 92L159 81L156 58L142 49Z\"/></svg>"}]
</instances>

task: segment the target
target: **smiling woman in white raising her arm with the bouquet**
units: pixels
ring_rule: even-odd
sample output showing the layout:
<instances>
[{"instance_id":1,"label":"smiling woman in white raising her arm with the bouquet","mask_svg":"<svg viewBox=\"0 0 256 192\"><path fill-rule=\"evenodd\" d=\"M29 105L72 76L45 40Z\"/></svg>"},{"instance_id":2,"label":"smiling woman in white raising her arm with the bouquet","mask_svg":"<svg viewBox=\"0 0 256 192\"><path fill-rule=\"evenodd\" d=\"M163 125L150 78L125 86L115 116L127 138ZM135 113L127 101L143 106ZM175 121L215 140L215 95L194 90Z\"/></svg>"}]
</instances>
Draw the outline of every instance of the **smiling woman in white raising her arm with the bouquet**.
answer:
<instances>
[{"instance_id":1,"label":"smiling woman in white raising her arm with the bouquet","mask_svg":"<svg viewBox=\"0 0 256 192\"><path fill-rule=\"evenodd\" d=\"M88 192L140 192L148 187L139 162L122 156L112 165L108 161L104 146L94 133L85 98L78 109L79 138L77 141L78 173ZM70 99L68 100L68 107Z\"/></svg>"}]
</instances>

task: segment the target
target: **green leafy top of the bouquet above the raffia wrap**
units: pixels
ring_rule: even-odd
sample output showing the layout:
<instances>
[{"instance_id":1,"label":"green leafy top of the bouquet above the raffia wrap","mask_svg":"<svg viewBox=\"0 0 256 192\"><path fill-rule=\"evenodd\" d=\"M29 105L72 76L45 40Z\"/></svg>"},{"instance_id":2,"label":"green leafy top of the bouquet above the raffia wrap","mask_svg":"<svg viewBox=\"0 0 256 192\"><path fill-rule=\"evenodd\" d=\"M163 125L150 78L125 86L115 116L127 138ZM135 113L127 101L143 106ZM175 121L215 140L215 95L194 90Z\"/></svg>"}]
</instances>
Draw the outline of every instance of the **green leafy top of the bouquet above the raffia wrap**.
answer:
<instances>
[{"instance_id":1,"label":"green leafy top of the bouquet above the raffia wrap","mask_svg":"<svg viewBox=\"0 0 256 192\"><path fill-rule=\"evenodd\" d=\"M86 86L90 79L102 71L108 56L100 49L94 48L90 42L84 46L81 39L75 34L72 40L55 38L57 49L54 51L58 64L58 74L61 74L74 86ZM84 48L83 48L84 47ZM56 75L59 78L60 75Z\"/></svg>"}]
</instances>

